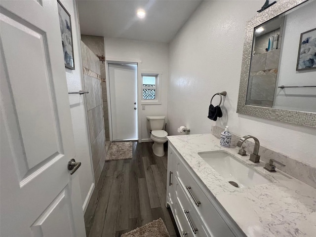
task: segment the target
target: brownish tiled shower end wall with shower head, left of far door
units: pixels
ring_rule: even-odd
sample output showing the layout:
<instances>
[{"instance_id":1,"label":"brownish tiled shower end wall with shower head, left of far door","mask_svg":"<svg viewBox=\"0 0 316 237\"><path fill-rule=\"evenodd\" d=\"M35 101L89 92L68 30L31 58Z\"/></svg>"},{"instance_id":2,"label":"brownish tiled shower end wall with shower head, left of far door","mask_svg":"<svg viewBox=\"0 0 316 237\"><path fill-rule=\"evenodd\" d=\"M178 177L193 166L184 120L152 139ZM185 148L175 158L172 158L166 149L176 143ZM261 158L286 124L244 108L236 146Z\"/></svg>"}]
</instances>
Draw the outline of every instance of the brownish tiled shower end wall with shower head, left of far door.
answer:
<instances>
[{"instance_id":1,"label":"brownish tiled shower end wall with shower head, left of far door","mask_svg":"<svg viewBox=\"0 0 316 237\"><path fill-rule=\"evenodd\" d=\"M104 38L98 36L81 35L81 40L95 55L104 55ZM99 59L98 59L99 60ZM105 74L105 62L99 61L101 71L101 87L102 87L102 101L103 101L103 115L105 127L105 140L110 141L109 135L109 117L108 117L108 99L107 99L107 84Z\"/></svg>"}]
</instances>

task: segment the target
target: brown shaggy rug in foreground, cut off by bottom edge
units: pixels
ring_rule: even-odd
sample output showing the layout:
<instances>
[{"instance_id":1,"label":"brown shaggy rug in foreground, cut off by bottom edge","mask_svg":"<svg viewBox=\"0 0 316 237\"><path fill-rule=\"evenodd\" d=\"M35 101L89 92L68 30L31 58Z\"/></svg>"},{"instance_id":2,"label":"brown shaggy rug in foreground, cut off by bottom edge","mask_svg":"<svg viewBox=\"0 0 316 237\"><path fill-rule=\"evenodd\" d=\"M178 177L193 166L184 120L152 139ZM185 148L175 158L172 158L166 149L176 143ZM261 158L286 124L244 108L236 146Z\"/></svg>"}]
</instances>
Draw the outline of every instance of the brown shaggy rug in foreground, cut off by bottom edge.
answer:
<instances>
[{"instance_id":1,"label":"brown shaggy rug in foreground, cut off by bottom edge","mask_svg":"<svg viewBox=\"0 0 316 237\"><path fill-rule=\"evenodd\" d=\"M161 218L121 235L121 237L170 237Z\"/></svg>"}]
</instances>

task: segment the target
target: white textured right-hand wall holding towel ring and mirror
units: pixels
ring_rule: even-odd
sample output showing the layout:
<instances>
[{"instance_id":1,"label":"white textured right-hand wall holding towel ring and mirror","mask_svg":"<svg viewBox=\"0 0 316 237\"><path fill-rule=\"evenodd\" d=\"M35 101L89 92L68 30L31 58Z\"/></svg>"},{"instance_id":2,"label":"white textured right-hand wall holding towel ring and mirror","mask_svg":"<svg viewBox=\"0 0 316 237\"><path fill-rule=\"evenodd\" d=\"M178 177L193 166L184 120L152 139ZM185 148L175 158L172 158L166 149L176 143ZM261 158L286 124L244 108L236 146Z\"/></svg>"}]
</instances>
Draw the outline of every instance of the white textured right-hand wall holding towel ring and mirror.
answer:
<instances>
[{"instance_id":1,"label":"white textured right-hand wall holding towel ring and mirror","mask_svg":"<svg viewBox=\"0 0 316 237\"><path fill-rule=\"evenodd\" d=\"M172 40L169 134L178 134L179 125L187 125L191 134L209 133L215 124L229 125L237 135L253 135L263 146L316 167L316 129L236 113L245 23L262 4L204 1ZM212 95L223 90L223 117L214 122L206 118L208 106Z\"/></svg>"}]
</instances>

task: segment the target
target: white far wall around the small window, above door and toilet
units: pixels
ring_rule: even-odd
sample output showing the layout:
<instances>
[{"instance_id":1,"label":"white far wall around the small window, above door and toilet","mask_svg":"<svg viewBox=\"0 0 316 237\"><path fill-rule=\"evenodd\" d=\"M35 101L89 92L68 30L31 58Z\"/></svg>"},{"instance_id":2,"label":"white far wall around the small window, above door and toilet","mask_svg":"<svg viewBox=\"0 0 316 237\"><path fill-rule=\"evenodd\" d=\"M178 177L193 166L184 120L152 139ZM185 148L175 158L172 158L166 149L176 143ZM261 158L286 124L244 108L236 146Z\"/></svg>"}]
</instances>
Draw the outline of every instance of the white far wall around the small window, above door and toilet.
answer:
<instances>
[{"instance_id":1,"label":"white far wall around the small window, above door and toilet","mask_svg":"<svg viewBox=\"0 0 316 237\"><path fill-rule=\"evenodd\" d=\"M136 40L105 39L105 57L118 60L140 60L141 71L161 72L161 105L145 105L141 110L141 138L150 138L146 126L146 116L165 116L167 114L167 85L168 85L168 44ZM140 81L140 79L139 79Z\"/></svg>"}]
</instances>

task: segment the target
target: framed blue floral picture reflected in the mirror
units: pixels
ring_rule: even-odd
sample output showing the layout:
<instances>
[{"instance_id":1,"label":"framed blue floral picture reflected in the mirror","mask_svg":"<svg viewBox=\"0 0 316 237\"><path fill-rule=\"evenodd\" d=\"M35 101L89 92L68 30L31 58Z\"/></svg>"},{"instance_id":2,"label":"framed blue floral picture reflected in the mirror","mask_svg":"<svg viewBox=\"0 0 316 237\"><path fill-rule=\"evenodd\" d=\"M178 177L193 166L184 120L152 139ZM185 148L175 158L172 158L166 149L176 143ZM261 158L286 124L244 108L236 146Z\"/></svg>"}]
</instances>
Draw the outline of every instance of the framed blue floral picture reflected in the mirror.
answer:
<instances>
[{"instance_id":1,"label":"framed blue floral picture reflected in the mirror","mask_svg":"<svg viewBox=\"0 0 316 237\"><path fill-rule=\"evenodd\" d=\"M312 50L313 46L316 46L316 28L301 34L296 71L316 69L316 52Z\"/></svg>"}]
</instances>

